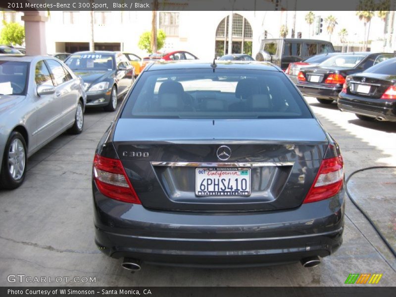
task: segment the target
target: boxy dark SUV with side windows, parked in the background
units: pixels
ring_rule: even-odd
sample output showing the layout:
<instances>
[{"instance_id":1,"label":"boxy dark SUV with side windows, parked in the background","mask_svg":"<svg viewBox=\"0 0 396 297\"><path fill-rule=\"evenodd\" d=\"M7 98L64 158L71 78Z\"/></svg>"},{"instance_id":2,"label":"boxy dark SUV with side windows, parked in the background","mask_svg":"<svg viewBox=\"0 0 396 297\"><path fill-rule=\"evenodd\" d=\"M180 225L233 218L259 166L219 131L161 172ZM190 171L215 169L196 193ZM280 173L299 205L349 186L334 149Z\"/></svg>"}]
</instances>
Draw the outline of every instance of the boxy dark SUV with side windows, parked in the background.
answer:
<instances>
[{"instance_id":1,"label":"boxy dark SUV with side windows, parked in the background","mask_svg":"<svg viewBox=\"0 0 396 297\"><path fill-rule=\"evenodd\" d=\"M256 60L274 63L285 71L290 63L299 62L315 54L334 51L333 44L324 40L299 38L263 39L260 51L256 54Z\"/></svg>"}]
</instances>

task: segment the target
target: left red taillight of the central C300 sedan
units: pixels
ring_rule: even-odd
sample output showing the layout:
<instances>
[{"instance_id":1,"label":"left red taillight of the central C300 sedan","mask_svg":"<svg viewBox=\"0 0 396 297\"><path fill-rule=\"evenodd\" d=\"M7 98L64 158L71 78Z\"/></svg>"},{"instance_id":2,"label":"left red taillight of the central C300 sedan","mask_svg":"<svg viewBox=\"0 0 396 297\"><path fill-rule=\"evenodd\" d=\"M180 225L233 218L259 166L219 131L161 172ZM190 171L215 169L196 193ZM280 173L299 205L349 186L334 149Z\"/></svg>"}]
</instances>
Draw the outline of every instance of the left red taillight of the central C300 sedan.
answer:
<instances>
[{"instance_id":1,"label":"left red taillight of the central C300 sedan","mask_svg":"<svg viewBox=\"0 0 396 297\"><path fill-rule=\"evenodd\" d=\"M98 190L104 196L123 202L141 204L119 159L110 159L96 154L94 179Z\"/></svg>"}]
</instances>

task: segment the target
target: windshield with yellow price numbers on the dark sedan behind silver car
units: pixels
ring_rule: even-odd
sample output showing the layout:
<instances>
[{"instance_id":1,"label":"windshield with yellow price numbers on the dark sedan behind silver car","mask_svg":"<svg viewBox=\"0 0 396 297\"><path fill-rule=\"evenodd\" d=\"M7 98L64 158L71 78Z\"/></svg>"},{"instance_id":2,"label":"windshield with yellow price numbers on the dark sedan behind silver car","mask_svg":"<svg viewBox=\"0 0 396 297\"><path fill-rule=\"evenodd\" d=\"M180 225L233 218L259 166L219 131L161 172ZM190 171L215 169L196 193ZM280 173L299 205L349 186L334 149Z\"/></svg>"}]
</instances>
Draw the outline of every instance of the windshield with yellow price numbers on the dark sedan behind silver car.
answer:
<instances>
[{"instance_id":1,"label":"windshield with yellow price numbers on the dark sedan behind silver car","mask_svg":"<svg viewBox=\"0 0 396 297\"><path fill-rule=\"evenodd\" d=\"M109 54L72 54L65 64L72 70L113 70L113 57Z\"/></svg>"}]
</instances>

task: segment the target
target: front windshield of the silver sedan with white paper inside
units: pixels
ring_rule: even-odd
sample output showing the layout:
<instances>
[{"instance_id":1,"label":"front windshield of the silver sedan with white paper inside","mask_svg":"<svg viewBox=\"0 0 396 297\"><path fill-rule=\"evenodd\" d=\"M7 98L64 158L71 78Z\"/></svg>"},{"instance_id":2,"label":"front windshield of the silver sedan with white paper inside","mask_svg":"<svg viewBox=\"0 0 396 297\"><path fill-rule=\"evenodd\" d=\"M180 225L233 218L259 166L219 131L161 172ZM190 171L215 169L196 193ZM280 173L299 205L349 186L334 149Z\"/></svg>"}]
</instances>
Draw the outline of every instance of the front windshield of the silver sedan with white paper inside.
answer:
<instances>
[{"instance_id":1,"label":"front windshield of the silver sedan with white paper inside","mask_svg":"<svg viewBox=\"0 0 396 297\"><path fill-rule=\"evenodd\" d=\"M0 61L0 95L26 94L28 66L27 62Z\"/></svg>"}]
</instances>

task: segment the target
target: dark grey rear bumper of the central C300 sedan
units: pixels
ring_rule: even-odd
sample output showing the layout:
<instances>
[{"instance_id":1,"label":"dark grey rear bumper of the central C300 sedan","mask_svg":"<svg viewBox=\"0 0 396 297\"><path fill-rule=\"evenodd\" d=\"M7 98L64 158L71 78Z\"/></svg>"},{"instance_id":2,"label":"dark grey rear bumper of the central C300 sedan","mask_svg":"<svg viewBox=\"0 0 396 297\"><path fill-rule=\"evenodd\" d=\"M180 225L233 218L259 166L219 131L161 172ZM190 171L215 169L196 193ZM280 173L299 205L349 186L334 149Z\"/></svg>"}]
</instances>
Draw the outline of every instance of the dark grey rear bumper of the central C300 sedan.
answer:
<instances>
[{"instance_id":1,"label":"dark grey rear bumper of the central C300 sedan","mask_svg":"<svg viewBox=\"0 0 396 297\"><path fill-rule=\"evenodd\" d=\"M344 190L289 210L159 211L112 200L94 186L95 241L114 258L196 267L258 266L330 255L342 244Z\"/></svg>"}]
</instances>

